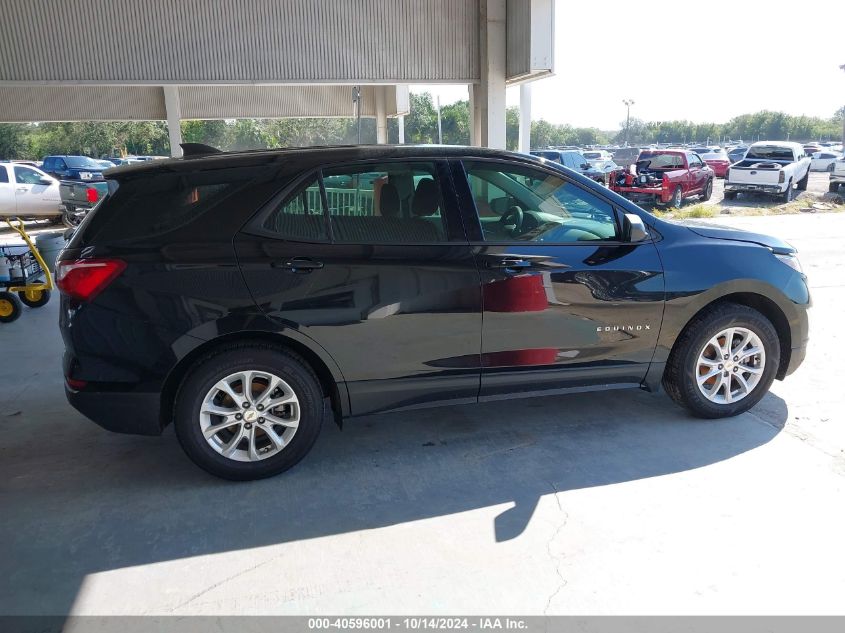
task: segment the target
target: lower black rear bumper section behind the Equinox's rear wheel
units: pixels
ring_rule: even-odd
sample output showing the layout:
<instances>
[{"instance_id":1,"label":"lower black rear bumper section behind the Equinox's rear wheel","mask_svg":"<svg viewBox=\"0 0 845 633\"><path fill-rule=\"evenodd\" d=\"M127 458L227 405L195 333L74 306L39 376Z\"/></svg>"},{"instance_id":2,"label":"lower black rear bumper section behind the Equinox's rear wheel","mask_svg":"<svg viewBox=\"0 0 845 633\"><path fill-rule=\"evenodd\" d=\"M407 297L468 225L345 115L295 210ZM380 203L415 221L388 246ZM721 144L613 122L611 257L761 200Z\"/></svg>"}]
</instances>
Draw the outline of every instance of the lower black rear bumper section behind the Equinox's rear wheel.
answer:
<instances>
[{"instance_id":1,"label":"lower black rear bumper section behind the Equinox's rear wheel","mask_svg":"<svg viewBox=\"0 0 845 633\"><path fill-rule=\"evenodd\" d=\"M108 431L161 435L157 393L75 391L65 385L65 395L74 409Z\"/></svg>"}]
</instances>

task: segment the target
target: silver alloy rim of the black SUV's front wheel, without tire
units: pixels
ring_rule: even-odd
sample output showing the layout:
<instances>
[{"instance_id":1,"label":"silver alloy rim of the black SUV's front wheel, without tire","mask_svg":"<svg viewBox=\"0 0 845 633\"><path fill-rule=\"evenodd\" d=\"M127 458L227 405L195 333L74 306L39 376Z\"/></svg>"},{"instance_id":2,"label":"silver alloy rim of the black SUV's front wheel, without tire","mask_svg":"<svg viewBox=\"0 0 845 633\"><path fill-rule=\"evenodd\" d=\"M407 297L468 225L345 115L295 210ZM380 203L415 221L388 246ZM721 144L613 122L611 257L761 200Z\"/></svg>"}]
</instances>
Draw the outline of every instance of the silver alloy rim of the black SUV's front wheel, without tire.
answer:
<instances>
[{"instance_id":1,"label":"silver alloy rim of the black SUV's front wheel, without tire","mask_svg":"<svg viewBox=\"0 0 845 633\"><path fill-rule=\"evenodd\" d=\"M696 383L710 402L731 404L754 391L765 368L766 350L760 337L748 328L727 328L699 353Z\"/></svg>"}]
</instances>

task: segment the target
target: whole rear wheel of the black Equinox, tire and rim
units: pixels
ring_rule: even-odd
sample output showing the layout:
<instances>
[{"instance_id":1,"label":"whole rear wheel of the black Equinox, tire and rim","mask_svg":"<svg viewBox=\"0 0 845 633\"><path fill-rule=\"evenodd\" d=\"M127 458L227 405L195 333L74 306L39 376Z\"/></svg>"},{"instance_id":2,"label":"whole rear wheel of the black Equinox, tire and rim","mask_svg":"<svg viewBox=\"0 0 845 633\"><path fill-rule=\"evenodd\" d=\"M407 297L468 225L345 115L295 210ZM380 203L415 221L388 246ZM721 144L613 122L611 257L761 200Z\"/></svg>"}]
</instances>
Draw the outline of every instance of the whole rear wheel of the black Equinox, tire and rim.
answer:
<instances>
[{"instance_id":1,"label":"whole rear wheel of the black Equinox, tire and rim","mask_svg":"<svg viewBox=\"0 0 845 633\"><path fill-rule=\"evenodd\" d=\"M240 344L194 365L179 388L174 424L200 468L250 480L281 473L305 457L322 414L320 383L299 356Z\"/></svg>"}]
</instances>

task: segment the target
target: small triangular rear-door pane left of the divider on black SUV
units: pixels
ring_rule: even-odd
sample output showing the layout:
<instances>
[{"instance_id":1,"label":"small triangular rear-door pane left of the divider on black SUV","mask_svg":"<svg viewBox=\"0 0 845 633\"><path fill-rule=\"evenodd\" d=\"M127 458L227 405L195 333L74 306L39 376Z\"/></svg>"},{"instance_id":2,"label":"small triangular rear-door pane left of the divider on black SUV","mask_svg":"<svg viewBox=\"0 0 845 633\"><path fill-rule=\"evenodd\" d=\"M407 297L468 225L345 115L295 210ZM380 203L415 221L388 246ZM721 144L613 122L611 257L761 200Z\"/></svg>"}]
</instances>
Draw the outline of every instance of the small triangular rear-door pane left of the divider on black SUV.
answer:
<instances>
[{"instance_id":1,"label":"small triangular rear-door pane left of the divider on black SUV","mask_svg":"<svg viewBox=\"0 0 845 633\"><path fill-rule=\"evenodd\" d=\"M317 176L312 176L286 196L264 221L264 228L284 239L327 241L326 209Z\"/></svg>"}]
</instances>

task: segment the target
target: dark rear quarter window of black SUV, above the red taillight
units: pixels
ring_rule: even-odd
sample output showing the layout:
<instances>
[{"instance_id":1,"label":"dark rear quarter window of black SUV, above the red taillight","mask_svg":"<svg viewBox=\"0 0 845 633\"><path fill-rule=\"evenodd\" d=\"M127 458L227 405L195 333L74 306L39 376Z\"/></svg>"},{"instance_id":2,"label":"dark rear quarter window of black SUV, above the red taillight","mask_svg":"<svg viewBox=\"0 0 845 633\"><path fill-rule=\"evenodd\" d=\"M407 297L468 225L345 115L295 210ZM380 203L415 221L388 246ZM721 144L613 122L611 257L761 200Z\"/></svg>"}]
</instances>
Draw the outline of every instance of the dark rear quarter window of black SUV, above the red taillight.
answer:
<instances>
[{"instance_id":1,"label":"dark rear quarter window of black SUV, above the red taillight","mask_svg":"<svg viewBox=\"0 0 845 633\"><path fill-rule=\"evenodd\" d=\"M154 172L109 182L109 196L85 230L84 242L121 242L156 237L200 220L241 190L251 169Z\"/></svg>"}]
</instances>

